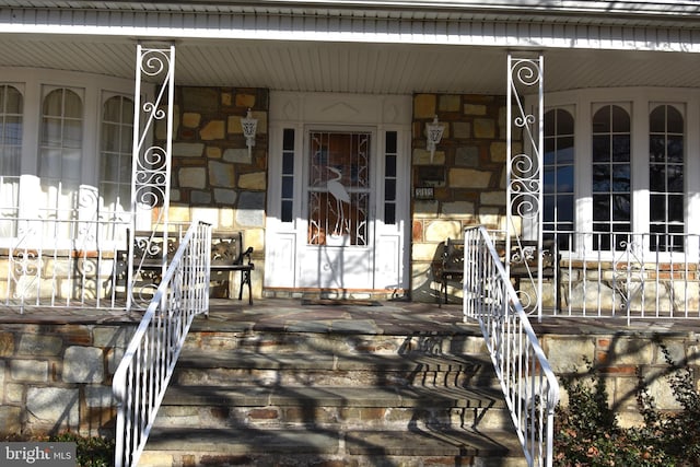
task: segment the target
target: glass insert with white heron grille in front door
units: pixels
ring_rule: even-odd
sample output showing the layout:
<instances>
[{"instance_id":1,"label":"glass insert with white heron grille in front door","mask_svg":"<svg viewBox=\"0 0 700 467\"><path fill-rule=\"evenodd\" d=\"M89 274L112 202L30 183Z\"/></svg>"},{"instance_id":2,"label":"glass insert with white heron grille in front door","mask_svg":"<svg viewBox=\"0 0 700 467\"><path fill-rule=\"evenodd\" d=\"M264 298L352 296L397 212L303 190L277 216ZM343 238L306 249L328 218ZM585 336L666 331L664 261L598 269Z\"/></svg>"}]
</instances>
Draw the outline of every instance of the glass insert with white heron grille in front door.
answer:
<instances>
[{"instance_id":1,"label":"glass insert with white heron grille in front door","mask_svg":"<svg viewBox=\"0 0 700 467\"><path fill-rule=\"evenodd\" d=\"M310 133L310 245L368 246L370 136Z\"/></svg>"}]
</instances>

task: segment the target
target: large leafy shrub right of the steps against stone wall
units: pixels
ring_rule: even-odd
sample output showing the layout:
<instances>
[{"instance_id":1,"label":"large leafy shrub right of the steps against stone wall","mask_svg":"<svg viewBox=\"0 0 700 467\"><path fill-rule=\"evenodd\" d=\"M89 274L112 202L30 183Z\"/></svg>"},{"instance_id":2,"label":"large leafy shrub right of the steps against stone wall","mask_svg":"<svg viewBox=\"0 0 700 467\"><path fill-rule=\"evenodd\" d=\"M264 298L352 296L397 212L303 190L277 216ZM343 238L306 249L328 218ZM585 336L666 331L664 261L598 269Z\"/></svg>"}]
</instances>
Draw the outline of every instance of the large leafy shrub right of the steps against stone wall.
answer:
<instances>
[{"instance_id":1,"label":"large leafy shrub right of the steps against stone wall","mask_svg":"<svg viewBox=\"0 0 700 467\"><path fill-rule=\"evenodd\" d=\"M637 401L643 423L622 429L608 406L605 378L590 369L582 378L562 378L569 406L558 407L555 418L555 465L574 466L700 466L700 394L692 373L675 364L666 348L666 376L677 413L656 409L648 385L639 377Z\"/></svg>"}]
</instances>

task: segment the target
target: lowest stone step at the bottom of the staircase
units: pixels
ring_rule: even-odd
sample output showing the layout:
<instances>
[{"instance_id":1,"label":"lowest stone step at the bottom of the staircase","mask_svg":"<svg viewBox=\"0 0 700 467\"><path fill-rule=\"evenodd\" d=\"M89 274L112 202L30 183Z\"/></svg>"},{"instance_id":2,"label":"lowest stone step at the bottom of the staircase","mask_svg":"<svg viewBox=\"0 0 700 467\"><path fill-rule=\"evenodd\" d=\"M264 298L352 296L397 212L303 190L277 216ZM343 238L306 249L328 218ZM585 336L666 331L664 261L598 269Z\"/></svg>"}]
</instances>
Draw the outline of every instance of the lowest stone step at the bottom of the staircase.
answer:
<instances>
[{"instance_id":1,"label":"lowest stone step at the bottom of the staircase","mask_svg":"<svg viewBox=\"0 0 700 467\"><path fill-rule=\"evenodd\" d=\"M413 430L155 428L139 466L523 466L508 432L440 427Z\"/></svg>"}]
</instances>

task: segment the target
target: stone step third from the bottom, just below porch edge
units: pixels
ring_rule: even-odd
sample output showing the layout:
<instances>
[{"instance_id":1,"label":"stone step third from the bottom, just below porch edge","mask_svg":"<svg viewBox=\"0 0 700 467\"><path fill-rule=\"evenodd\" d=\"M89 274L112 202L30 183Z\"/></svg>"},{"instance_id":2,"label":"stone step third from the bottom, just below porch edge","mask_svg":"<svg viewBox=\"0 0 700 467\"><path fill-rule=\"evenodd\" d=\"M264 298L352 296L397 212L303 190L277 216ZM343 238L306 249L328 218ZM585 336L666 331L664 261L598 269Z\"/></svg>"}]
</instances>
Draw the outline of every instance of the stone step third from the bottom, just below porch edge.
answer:
<instances>
[{"instance_id":1,"label":"stone step third from the bottom, just below porch edge","mask_svg":"<svg viewBox=\"0 0 700 467\"><path fill-rule=\"evenodd\" d=\"M185 349L173 385L259 386L407 386L454 385L498 387L483 354L347 355L330 352L259 353L249 350L209 352Z\"/></svg>"}]
</instances>

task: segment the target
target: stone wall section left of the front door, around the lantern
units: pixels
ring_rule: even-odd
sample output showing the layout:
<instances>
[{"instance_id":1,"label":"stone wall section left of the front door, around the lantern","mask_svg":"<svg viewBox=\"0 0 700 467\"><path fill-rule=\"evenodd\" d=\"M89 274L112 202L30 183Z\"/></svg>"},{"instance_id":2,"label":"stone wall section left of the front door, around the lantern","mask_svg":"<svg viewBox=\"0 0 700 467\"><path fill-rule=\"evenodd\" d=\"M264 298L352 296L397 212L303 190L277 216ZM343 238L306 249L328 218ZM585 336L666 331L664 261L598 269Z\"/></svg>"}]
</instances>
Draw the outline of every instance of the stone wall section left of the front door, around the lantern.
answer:
<instances>
[{"instance_id":1,"label":"stone wall section left of the front door, around the lantern","mask_svg":"<svg viewBox=\"0 0 700 467\"><path fill-rule=\"evenodd\" d=\"M177 86L174 98L171 222L211 222L214 231L242 231L254 247L253 294L265 267L268 100L266 89ZM250 108L257 136L250 154L241 118ZM165 122L155 129L163 142ZM237 291L237 273L231 275ZM233 295L232 295L233 296Z\"/></svg>"}]
</instances>

